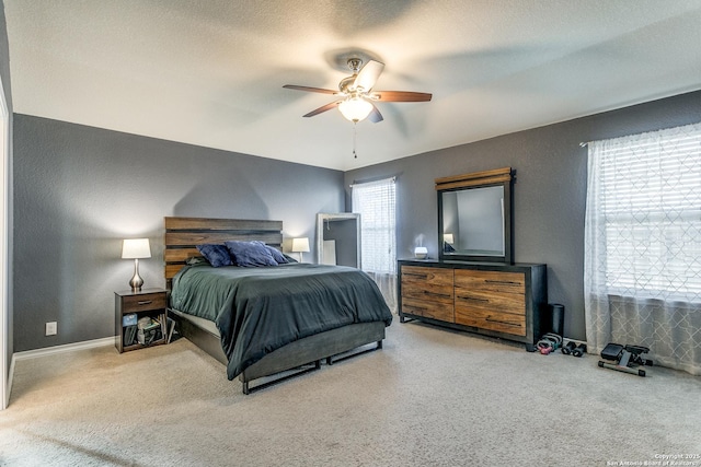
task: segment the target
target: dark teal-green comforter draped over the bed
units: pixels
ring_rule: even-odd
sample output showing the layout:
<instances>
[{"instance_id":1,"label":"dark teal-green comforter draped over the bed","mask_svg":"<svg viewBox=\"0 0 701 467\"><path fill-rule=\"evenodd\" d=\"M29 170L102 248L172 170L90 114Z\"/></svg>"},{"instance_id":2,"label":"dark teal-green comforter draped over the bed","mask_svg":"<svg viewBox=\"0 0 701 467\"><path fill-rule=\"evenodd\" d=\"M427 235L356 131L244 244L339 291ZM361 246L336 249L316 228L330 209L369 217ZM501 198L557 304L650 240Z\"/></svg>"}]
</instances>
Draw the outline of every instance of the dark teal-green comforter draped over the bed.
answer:
<instances>
[{"instance_id":1,"label":"dark teal-green comforter draped over the bed","mask_svg":"<svg viewBox=\"0 0 701 467\"><path fill-rule=\"evenodd\" d=\"M173 278L171 307L215 322L229 380L297 339L353 323L392 323L372 279L344 266L186 266Z\"/></svg>"}]
</instances>

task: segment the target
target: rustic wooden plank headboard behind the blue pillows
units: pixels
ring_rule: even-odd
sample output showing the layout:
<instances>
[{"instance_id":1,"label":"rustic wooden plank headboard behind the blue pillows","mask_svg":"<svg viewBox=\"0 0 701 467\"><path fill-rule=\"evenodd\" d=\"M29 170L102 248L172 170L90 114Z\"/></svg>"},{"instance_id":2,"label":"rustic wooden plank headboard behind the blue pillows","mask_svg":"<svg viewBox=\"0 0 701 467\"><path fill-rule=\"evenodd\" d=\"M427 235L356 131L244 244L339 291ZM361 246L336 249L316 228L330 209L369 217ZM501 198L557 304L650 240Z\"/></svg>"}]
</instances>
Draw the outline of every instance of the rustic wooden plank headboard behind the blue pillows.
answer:
<instances>
[{"instance_id":1,"label":"rustic wooden plank headboard behind the blue pillows","mask_svg":"<svg viewBox=\"0 0 701 467\"><path fill-rule=\"evenodd\" d=\"M230 240L258 240L281 249L283 221L252 221L242 219L165 218L165 283L171 288L173 277L185 261L202 256L197 245L223 243Z\"/></svg>"}]
</instances>

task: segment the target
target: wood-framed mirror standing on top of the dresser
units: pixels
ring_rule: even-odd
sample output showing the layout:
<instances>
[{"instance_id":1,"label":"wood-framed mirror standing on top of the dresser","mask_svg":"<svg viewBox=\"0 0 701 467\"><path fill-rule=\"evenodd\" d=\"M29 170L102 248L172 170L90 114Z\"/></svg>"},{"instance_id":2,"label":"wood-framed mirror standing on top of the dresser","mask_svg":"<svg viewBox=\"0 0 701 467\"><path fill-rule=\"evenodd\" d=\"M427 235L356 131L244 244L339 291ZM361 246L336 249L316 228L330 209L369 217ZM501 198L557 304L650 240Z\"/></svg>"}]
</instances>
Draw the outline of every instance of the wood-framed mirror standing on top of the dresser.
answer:
<instances>
[{"instance_id":1,"label":"wood-framed mirror standing on top of the dresser","mask_svg":"<svg viewBox=\"0 0 701 467\"><path fill-rule=\"evenodd\" d=\"M512 262L510 167L436 179L439 257Z\"/></svg>"}]
</instances>

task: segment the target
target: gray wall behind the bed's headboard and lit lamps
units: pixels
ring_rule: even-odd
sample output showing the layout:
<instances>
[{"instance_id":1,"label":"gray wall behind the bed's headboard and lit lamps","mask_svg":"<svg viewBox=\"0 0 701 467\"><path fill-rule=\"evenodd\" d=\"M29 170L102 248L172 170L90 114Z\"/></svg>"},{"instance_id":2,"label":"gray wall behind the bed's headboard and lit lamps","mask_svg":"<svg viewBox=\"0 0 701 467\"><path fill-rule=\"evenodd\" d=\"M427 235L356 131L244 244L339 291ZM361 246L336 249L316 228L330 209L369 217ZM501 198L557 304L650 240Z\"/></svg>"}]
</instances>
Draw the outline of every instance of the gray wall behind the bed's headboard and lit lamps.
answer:
<instances>
[{"instance_id":1,"label":"gray wall behind the bed's headboard and lit lamps","mask_svg":"<svg viewBox=\"0 0 701 467\"><path fill-rule=\"evenodd\" d=\"M14 147L15 352L114 336L122 240L150 238L145 288L164 287L166 215L281 220L314 258L317 213L345 203L338 171L33 116L14 116Z\"/></svg>"}]
</instances>

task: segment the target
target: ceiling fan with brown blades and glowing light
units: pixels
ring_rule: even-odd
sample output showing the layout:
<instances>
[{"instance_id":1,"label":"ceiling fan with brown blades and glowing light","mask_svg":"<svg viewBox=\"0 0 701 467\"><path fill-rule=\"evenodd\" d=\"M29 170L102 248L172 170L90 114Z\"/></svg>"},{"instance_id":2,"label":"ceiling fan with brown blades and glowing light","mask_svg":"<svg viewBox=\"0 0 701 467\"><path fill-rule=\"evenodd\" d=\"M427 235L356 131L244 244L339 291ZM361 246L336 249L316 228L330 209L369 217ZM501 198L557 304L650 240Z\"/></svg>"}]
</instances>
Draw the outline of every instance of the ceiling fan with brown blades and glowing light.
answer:
<instances>
[{"instance_id":1,"label":"ceiling fan with brown blades and glowing light","mask_svg":"<svg viewBox=\"0 0 701 467\"><path fill-rule=\"evenodd\" d=\"M372 91L375 83L384 69L384 63L376 60L369 60L363 65L360 58L349 58L348 68L353 71L353 75L344 78L338 83L338 91L325 90L322 87L299 86L296 84L285 84L283 87L288 90L307 91L322 94L333 94L338 96L337 101L304 115L304 117L313 117L323 112L338 107L338 110L345 118L353 122L358 122L365 118L377 124L382 121L382 114L375 106L375 102L428 102L432 94L416 93L410 91Z\"/></svg>"}]
</instances>

